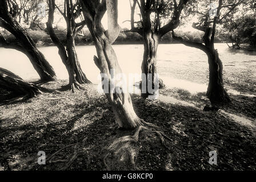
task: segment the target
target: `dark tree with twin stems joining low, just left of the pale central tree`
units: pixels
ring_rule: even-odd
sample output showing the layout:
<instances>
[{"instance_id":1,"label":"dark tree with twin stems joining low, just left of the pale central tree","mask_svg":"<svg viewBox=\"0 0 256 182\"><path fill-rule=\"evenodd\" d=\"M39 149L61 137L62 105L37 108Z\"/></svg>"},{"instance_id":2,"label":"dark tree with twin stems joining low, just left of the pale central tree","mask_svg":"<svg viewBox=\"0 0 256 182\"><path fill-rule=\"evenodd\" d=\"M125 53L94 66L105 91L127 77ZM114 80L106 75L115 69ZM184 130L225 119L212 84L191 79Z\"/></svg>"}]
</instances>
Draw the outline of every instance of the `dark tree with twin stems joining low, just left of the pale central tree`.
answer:
<instances>
[{"instance_id":1,"label":"dark tree with twin stems joining low, just left of the pale central tree","mask_svg":"<svg viewBox=\"0 0 256 182\"><path fill-rule=\"evenodd\" d=\"M75 41L74 38L77 35L77 32L81 31L85 26L85 21L75 23L75 19L81 14L81 6L78 2L73 4L73 0L65 0L64 1L64 11L62 12L58 6L55 5L55 0L48 0L49 3L49 16L47 30L53 40L55 46L59 49L59 56L61 56L63 64L65 64L67 68L67 72L69 73L69 85L67 88L70 88L72 92L74 92L75 88L83 89L80 84L91 83L83 73L81 66L78 61L77 52L75 51ZM66 49L57 37L53 29L53 21L54 21L54 10L55 7L59 10L62 16L65 18L67 24L67 44Z\"/></svg>"}]
</instances>

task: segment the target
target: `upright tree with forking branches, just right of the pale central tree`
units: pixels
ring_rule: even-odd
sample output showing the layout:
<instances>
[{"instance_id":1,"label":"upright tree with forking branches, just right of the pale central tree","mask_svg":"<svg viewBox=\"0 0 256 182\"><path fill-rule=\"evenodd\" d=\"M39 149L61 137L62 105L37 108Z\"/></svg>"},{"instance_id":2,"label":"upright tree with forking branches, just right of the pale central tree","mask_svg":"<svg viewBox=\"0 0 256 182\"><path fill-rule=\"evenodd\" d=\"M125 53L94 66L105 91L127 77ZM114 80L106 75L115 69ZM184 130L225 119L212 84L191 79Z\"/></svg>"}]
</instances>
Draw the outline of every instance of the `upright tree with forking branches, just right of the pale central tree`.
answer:
<instances>
[{"instance_id":1,"label":"upright tree with forking branches, just right of the pale central tree","mask_svg":"<svg viewBox=\"0 0 256 182\"><path fill-rule=\"evenodd\" d=\"M138 2L138 1L137 1ZM159 78L156 78L157 74L157 47L159 40L165 35L167 32L174 30L179 25L179 18L181 16L181 12L183 7L185 7L187 0L181 0L177 4L174 1L173 7L173 15L169 23L165 24L165 26L161 27L160 15L162 11L161 3L163 1L151 1L151 0L141 0L138 2L139 9L141 10L142 17L142 36L144 39L144 54L142 61L142 93L141 96L143 98L155 98L156 94L158 94L158 89L165 87L163 81ZM155 21L152 20L152 15L155 14ZM131 14L134 14L131 7ZM154 24L153 24L154 22ZM154 28L153 28L154 27ZM149 75L152 74L151 85L155 91L149 92ZM143 77L145 77L145 81L143 81ZM143 83L144 82L144 83ZM146 93L143 92L143 84L146 85ZM156 86L155 84L158 84ZM158 88L157 88L158 87ZM157 89L156 89L157 88ZM152 96L153 95L153 96Z\"/></svg>"}]
</instances>

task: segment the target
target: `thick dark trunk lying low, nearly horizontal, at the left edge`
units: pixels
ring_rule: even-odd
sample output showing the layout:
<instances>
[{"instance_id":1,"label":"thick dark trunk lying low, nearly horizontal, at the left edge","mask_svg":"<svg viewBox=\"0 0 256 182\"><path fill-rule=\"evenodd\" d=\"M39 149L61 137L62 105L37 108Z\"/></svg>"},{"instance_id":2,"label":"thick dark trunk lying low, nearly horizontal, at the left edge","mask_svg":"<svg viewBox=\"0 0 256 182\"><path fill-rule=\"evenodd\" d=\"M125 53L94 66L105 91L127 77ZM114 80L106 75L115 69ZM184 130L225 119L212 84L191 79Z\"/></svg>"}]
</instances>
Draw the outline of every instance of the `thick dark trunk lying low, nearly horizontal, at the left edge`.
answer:
<instances>
[{"instance_id":1,"label":"thick dark trunk lying low, nearly horizontal, at the left edge","mask_svg":"<svg viewBox=\"0 0 256 182\"><path fill-rule=\"evenodd\" d=\"M23 81L21 77L3 68L0 68L0 88L11 91L17 96L23 96L24 100L42 92L51 92L49 89Z\"/></svg>"}]
</instances>

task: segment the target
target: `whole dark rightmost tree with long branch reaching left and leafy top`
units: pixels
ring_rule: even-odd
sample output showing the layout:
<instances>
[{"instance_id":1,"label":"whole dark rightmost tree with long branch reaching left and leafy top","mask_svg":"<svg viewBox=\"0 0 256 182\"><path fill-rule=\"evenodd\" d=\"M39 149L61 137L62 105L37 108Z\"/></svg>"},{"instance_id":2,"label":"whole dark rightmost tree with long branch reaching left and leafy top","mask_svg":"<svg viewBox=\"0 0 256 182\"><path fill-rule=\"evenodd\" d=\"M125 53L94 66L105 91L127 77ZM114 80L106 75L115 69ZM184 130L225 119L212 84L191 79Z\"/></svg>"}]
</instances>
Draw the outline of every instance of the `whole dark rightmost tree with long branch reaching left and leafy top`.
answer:
<instances>
[{"instance_id":1,"label":"whole dark rightmost tree with long branch reaching left and leafy top","mask_svg":"<svg viewBox=\"0 0 256 182\"><path fill-rule=\"evenodd\" d=\"M195 10L193 7L191 7L189 9L189 13L193 13L193 15L196 14L199 16L199 22L193 23L192 27L204 32L202 38L203 43L185 40L179 36L176 36L174 31L172 32L174 39L185 44L186 46L201 49L203 52L206 53L209 63L209 85L206 95L207 97L209 97L211 105L214 106L219 106L230 102L230 97L223 86L222 61L219 58L217 49L214 48L216 26L217 24L221 24L225 20L228 20L228 18L230 17L229 15L236 10L236 7L238 7L238 5L241 5L241 3L245 1L246 0L238 0L235 2L230 2L219 0L217 7L210 10L213 12L215 11L216 13L213 19L211 19L211 16L209 14L209 1L198 1L197 7L201 7L201 9L199 10Z\"/></svg>"}]
</instances>

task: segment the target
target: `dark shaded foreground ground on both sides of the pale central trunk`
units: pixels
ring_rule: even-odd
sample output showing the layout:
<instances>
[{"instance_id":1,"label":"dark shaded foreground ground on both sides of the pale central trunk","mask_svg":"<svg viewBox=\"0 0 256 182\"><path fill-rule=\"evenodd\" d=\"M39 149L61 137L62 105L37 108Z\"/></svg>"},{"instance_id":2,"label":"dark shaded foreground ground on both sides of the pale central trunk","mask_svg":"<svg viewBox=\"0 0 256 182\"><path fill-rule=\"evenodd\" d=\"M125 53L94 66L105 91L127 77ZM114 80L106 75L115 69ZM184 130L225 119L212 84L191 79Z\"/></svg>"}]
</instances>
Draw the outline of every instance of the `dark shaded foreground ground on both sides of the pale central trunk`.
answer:
<instances>
[{"instance_id":1,"label":"dark shaded foreground ground on both sides of the pale central trunk","mask_svg":"<svg viewBox=\"0 0 256 182\"><path fill-rule=\"evenodd\" d=\"M171 140L162 146L157 135L142 131L134 143L135 169L139 170L230 170L256 169L255 129L235 123L216 112L167 104L132 96L139 117L154 123ZM54 115L67 115L51 121ZM0 162L5 169L25 170L105 170L106 146L131 135L113 127L114 114L105 97L67 104L55 113L42 113L33 123L9 126L3 118L0 128ZM13 121L18 120L14 117ZM36 124L35 124L36 123ZM211 166L209 152L216 150L218 166ZM46 165L38 165L37 152L46 152ZM114 161L113 161L114 162ZM122 164L120 162L119 164ZM116 169L132 169L117 166Z\"/></svg>"}]
</instances>

